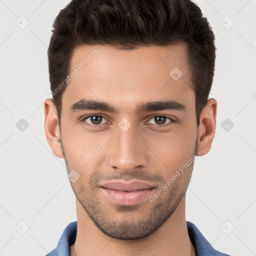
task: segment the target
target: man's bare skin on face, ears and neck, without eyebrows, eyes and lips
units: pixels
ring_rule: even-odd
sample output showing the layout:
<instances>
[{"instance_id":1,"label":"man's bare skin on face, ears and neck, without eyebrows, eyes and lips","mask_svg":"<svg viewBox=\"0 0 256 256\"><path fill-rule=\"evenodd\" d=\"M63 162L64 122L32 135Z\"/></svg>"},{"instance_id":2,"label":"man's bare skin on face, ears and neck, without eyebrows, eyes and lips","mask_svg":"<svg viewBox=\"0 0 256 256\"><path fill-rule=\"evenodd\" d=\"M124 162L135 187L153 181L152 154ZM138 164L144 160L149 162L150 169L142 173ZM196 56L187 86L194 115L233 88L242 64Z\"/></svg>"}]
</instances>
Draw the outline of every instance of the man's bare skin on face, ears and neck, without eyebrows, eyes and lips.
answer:
<instances>
[{"instance_id":1,"label":"man's bare skin on face, ears and neck, without eyebrows, eyes and lips","mask_svg":"<svg viewBox=\"0 0 256 256\"><path fill-rule=\"evenodd\" d=\"M136 205L116 205L102 193L99 183L145 181L155 185L154 195L196 151L204 155L210 150L217 102L208 99L197 127L184 42L133 50L82 45L73 52L70 70L95 48L99 52L69 81L62 95L61 132L52 100L44 101L44 128L52 152L65 159L67 172L75 169L80 175L70 182L77 212L77 235L70 255L196 255L185 220L185 192L193 162L153 202L147 197ZM175 66L183 73L178 80L169 75ZM107 102L118 112L71 113L70 106L81 98ZM186 110L135 113L140 103L166 99L184 104ZM80 118L89 114L104 118L82 122ZM162 115L176 121L154 118ZM118 126L123 118L131 125L126 131Z\"/></svg>"}]
</instances>

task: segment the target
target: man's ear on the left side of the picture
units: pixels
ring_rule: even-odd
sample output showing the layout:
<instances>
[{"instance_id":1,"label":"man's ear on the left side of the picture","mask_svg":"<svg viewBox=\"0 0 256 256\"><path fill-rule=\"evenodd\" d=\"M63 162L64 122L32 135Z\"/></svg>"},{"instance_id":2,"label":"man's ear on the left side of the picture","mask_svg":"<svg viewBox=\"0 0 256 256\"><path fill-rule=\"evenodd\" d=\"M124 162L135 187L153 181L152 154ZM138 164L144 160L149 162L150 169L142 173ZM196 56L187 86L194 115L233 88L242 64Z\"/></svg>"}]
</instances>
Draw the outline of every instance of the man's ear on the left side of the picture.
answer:
<instances>
[{"instance_id":1,"label":"man's ear on the left side of the picture","mask_svg":"<svg viewBox=\"0 0 256 256\"><path fill-rule=\"evenodd\" d=\"M64 158L62 148L59 142L60 130L58 125L57 111L52 99L46 98L44 100L43 111L44 131L48 144L50 145L52 152L56 156Z\"/></svg>"}]
</instances>

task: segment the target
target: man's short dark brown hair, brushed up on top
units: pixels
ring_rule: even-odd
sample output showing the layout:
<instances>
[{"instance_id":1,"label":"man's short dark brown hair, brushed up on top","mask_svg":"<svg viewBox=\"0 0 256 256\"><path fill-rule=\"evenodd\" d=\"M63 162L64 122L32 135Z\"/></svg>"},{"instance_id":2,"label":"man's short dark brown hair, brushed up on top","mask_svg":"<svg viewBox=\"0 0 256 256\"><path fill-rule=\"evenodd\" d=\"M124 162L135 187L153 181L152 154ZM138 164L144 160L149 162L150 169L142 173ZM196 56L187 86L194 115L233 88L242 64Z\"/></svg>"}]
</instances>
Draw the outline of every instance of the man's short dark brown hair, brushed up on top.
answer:
<instances>
[{"instance_id":1,"label":"man's short dark brown hair, brushed up on top","mask_svg":"<svg viewBox=\"0 0 256 256\"><path fill-rule=\"evenodd\" d=\"M196 123L208 100L215 66L214 33L191 0L72 0L53 22L48 47L50 89L59 125L61 97L56 93L70 72L78 45L114 45L118 49L165 46L185 41L195 92ZM67 84L67 82L66 82Z\"/></svg>"}]
</instances>

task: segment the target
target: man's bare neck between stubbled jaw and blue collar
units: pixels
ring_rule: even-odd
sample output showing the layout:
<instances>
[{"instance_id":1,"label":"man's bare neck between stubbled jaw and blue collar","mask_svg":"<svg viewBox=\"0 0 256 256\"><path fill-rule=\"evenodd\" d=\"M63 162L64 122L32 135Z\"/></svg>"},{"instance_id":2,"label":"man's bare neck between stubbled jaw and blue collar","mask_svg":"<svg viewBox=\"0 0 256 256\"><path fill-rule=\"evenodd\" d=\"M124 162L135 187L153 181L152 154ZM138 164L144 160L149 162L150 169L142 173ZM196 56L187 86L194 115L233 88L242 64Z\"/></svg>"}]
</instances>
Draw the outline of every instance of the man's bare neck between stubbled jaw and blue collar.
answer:
<instances>
[{"instance_id":1,"label":"man's bare neck between stubbled jaw and blue collar","mask_svg":"<svg viewBox=\"0 0 256 256\"><path fill-rule=\"evenodd\" d=\"M185 196L168 219L150 235L136 240L120 240L102 233L76 200L77 234L71 256L196 256L185 220Z\"/></svg>"}]
</instances>

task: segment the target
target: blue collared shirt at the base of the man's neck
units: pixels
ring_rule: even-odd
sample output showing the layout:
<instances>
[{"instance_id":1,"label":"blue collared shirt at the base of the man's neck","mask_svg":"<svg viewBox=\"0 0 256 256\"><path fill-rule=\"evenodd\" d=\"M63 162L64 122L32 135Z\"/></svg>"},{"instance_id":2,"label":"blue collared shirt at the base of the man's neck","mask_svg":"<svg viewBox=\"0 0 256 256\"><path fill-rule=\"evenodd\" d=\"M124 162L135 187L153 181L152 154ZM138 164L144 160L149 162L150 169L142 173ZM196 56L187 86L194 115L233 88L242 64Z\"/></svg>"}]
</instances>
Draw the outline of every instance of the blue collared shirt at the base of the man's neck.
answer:
<instances>
[{"instance_id":1,"label":"blue collared shirt at the base of the man's neck","mask_svg":"<svg viewBox=\"0 0 256 256\"><path fill-rule=\"evenodd\" d=\"M197 256L230 256L215 250L192 222L186 221L186 226ZM62 233L57 247L46 256L70 256L69 248L75 242L76 230L77 222L69 223Z\"/></svg>"}]
</instances>

